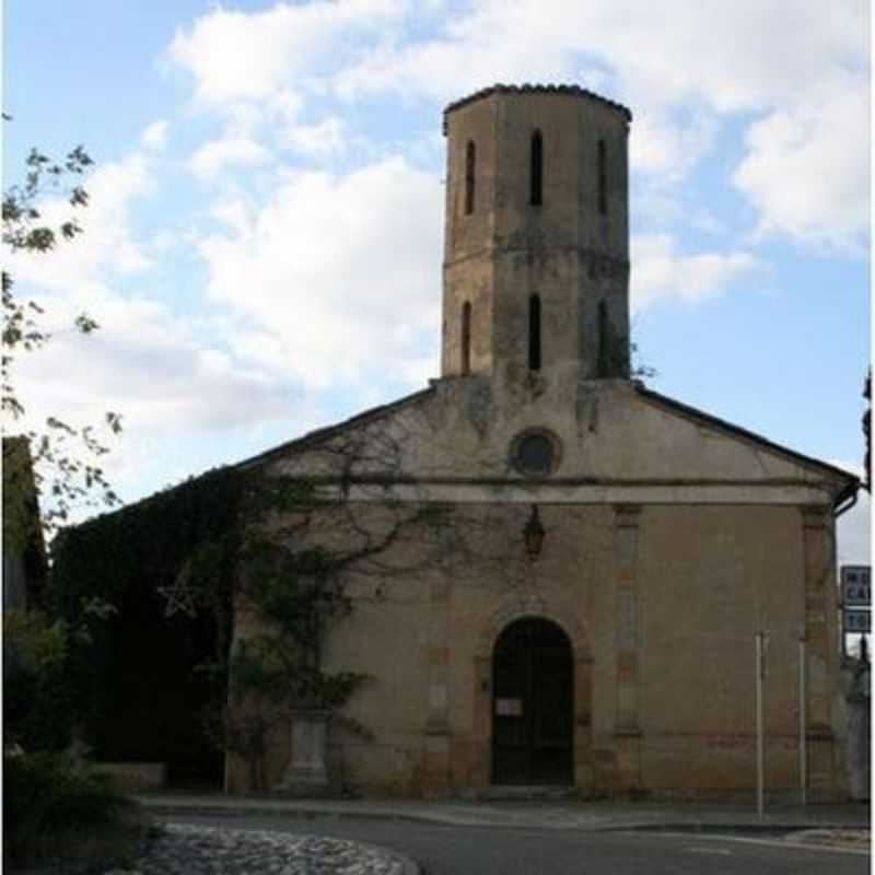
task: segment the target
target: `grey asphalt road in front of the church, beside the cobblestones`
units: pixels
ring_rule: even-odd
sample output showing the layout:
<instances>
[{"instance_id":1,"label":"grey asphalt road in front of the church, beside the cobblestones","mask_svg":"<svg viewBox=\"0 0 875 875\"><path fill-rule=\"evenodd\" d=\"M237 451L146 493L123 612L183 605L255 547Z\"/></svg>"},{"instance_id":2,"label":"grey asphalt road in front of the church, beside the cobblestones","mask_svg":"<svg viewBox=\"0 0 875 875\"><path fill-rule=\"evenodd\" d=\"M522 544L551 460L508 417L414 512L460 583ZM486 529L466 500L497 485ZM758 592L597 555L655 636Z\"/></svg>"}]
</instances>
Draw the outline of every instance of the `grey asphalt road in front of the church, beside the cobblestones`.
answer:
<instances>
[{"instance_id":1,"label":"grey asphalt road in front of the church, beside the cobblestones","mask_svg":"<svg viewBox=\"0 0 875 875\"><path fill-rule=\"evenodd\" d=\"M234 816L168 822L332 836L392 848L424 875L868 875L862 854L666 832L456 827L409 820Z\"/></svg>"}]
</instances>

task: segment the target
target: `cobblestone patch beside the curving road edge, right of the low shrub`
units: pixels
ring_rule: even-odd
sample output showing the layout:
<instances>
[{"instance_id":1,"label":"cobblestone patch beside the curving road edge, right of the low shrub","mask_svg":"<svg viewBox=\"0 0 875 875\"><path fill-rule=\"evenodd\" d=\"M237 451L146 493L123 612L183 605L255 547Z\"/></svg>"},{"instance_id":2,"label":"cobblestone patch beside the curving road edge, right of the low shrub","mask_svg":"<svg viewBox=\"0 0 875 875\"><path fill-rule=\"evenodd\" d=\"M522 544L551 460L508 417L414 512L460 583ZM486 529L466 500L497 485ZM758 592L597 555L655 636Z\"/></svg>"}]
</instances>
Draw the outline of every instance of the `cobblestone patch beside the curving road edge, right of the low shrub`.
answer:
<instances>
[{"instance_id":1,"label":"cobblestone patch beside the curving road edge, right of the low shrub","mask_svg":"<svg viewBox=\"0 0 875 875\"><path fill-rule=\"evenodd\" d=\"M416 875L398 854L347 839L170 824L132 867L105 875Z\"/></svg>"}]
</instances>

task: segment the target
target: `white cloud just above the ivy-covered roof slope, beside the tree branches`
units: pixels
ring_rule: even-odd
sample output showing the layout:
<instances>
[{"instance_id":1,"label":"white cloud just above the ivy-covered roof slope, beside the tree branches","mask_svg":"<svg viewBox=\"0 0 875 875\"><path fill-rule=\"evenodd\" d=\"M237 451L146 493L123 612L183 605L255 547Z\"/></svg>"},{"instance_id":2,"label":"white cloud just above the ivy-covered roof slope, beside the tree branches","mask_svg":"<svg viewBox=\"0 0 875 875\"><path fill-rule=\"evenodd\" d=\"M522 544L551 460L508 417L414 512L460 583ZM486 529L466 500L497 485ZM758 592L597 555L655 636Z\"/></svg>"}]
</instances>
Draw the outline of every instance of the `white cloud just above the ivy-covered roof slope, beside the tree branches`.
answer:
<instances>
[{"instance_id":1,"label":"white cloud just above the ivy-covered roof slope, beside the tree branches","mask_svg":"<svg viewBox=\"0 0 875 875\"><path fill-rule=\"evenodd\" d=\"M63 311L50 304L55 315ZM16 383L27 416L16 424L38 427L54 416L74 428L100 427L106 411L120 413L121 435L98 428L97 436L112 451L101 464L125 500L236 460L232 435L245 443L269 422L299 427L290 386L205 349L171 311L109 295L96 313L102 328L93 336L59 335L21 360Z\"/></svg>"}]
</instances>

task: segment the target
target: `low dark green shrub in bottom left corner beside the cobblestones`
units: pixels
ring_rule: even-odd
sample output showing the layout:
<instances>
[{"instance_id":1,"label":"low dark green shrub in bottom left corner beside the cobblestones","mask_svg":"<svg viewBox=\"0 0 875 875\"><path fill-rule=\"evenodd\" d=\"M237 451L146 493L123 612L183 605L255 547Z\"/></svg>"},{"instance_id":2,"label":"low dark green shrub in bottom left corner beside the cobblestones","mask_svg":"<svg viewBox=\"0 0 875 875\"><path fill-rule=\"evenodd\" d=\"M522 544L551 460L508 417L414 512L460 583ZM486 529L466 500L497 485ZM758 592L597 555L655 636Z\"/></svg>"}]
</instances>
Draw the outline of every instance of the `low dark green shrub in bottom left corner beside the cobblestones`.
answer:
<instances>
[{"instance_id":1,"label":"low dark green shrub in bottom left corner beside the cobblestones","mask_svg":"<svg viewBox=\"0 0 875 875\"><path fill-rule=\"evenodd\" d=\"M56 754L3 756L3 856L27 863L124 855L142 828L136 803Z\"/></svg>"}]
</instances>

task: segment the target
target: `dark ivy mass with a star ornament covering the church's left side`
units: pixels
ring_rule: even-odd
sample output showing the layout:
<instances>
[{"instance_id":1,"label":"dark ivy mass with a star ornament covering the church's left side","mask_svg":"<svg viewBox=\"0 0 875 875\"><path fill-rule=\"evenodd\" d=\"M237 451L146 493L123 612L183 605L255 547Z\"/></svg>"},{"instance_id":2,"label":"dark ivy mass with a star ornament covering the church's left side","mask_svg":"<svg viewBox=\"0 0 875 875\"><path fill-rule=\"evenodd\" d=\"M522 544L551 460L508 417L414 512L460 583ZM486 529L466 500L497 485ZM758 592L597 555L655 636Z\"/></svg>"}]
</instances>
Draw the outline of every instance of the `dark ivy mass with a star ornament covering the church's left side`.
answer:
<instances>
[{"instance_id":1,"label":"dark ivy mass with a star ornament covering the church's left side","mask_svg":"<svg viewBox=\"0 0 875 875\"><path fill-rule=\"evenodd\" d=\"M224 698L243 477L218 469L62 533L50 597L116 608L77 654L81 733L101 760L161 761L219 780L205 711Z\"/></svg>"}]
</instances>

